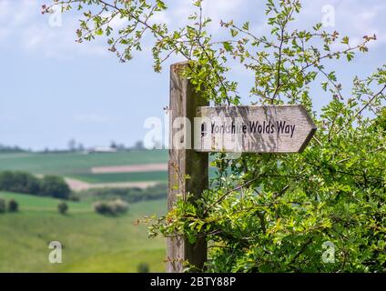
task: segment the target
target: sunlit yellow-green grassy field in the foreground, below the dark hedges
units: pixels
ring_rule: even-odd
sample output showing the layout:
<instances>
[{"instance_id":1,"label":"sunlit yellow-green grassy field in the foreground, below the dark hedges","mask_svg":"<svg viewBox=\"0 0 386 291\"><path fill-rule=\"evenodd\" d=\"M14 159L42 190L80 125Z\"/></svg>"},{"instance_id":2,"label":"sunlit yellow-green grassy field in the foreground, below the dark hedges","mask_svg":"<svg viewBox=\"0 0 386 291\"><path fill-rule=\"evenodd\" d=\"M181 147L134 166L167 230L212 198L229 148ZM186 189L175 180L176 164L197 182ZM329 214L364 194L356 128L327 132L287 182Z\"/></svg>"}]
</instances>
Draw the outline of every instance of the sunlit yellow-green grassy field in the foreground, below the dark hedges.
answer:
<instances>
[{"instance_id":1,"label":"sunlit yellow-green grassy field in the foreground, below the dark hedges","mask_svg":"<svg viewBox=\"0 0 386 291\"><path fill-rule=\"evenodd\" d=\"M164 272L166 246L147 238L147 226L135 224L145 215L163 214L165 200L129 206L125 216L97 215L91 204L68 202L59 215L59 200L0 192L14 198L18 213L0 214L0 272L137 272L147 263L150 272ZM63 245L63 264L48 262L51 241Z\"/></svg>"}]
</instances>

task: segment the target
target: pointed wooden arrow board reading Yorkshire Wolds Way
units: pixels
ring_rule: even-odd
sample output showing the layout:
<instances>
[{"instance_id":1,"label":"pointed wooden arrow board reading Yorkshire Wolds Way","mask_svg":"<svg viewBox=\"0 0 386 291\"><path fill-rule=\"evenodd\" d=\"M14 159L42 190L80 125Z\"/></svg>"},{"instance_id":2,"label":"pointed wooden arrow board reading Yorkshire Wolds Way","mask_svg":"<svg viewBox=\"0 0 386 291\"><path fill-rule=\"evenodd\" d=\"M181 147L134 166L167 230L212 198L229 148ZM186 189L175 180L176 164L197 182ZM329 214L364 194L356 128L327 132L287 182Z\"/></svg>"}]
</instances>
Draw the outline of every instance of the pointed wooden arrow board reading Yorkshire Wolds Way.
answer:
<instances>
[{"instance_id":1,"label":"pointed wooden arrow board reading Yorkshire Wolds Way","mask_svg":"<svg viewBox=\"0 0 386 291\"><path fill-rule=\"evenodd\" d=\"M198 107L198 152L300 153L316 131L302 105Z\"/></svg>"}]
</instances>

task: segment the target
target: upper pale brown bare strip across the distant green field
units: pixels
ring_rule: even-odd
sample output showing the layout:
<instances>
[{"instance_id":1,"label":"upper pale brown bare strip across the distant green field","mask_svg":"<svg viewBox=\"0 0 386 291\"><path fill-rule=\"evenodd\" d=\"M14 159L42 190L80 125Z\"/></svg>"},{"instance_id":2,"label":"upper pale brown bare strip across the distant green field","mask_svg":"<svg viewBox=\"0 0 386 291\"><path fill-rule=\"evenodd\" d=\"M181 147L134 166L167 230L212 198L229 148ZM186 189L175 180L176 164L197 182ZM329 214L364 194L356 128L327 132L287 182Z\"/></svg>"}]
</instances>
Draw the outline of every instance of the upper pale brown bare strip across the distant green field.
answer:
<instances>
[{"instance_id":1,"label":"upper pale brown bare strip across the distant green field","mask_svg":"<svg viewBox=\"0 0 386 291\"><path fill-rule=\"evenodd\" d=\"M168 171L168 164L141 164L130 166L94 166L91 168L93 174L107 174L107 173L145 173Z\"/></svg>"}]
</instances>

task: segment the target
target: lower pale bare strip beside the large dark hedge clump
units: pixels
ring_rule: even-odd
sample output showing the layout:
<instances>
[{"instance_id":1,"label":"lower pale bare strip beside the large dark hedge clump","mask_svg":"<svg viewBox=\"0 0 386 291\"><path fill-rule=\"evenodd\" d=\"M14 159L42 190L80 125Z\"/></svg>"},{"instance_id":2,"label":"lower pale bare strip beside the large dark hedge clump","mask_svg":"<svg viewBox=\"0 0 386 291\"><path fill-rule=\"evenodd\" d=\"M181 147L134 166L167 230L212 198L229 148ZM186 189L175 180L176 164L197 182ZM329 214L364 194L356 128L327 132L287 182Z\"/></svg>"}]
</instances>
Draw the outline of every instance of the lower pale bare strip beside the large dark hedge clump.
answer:
<instances>
[{"instance_id":1,"label":"lower pale bare strip beside the large dark hedge clump","mask_svg":"<svg viewBox=\"0 0 386 291\"><path fill-rule=\"evenodd\" d=\"M148 186L155 186L159 184L156 181L146 182L119 182L119 183L87 183L73 178L65 178L66 183L73 191L82 191L94 188L147 188Z\"/></svg>"}]
</instances>

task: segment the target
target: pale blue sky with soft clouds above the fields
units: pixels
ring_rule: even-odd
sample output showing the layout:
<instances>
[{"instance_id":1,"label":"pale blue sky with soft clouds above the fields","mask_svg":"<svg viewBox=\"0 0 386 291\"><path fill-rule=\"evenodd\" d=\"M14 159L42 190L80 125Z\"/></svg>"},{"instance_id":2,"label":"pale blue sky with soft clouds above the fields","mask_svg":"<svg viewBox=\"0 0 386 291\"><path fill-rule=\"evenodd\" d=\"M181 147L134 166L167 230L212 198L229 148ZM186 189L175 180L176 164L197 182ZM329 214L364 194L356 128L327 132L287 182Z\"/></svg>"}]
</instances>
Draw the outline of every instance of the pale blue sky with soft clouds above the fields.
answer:
<instances>
[{"instance_id":1,"label":"pale blue sky with soft clouds above the fields","mask_svg":"<svg viewBox=\"0 0 386 291\"><path fill-rule=\"evenodd\" d=\"M40 6L50 0L0 0L0 144L33 149L65 148L71 138L85 146L108 145L115 140L133 145L147 130L147 117L163 118L168 105L168 65L162 74L152 71L148 49L127 64L107 51L103 40L76 44L79 15L61 16L61 25L41 15ZM386 1L303 0L297 27L321 22L323 7L332 5L335 26L355 41L376 34L371 52L359 55L337 70L343 84L354 75L365 77L386 64ZM167 1L169 11L157 20L171 27L184 23L191 12L190 0ZM219 20L249 20L257 35L267 34L263 0L207 0L205 14L213 18L211 32L220 38ZM57 20L57 19L56 19ZM60 22L56 22L58 24ZM51 25L50 25L51 24ZM124 25L117 21L117 27ZM145 45L148 47L148 45ZM247 88L253 78L235 67L232 77L241 82L240 92L249 103ZM327 95L314 91L317 108Z\"/></svg>"}]
</instances>

